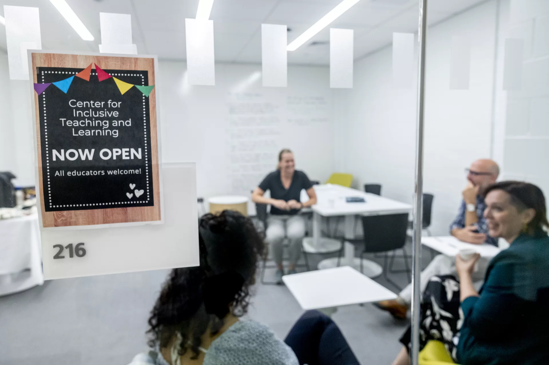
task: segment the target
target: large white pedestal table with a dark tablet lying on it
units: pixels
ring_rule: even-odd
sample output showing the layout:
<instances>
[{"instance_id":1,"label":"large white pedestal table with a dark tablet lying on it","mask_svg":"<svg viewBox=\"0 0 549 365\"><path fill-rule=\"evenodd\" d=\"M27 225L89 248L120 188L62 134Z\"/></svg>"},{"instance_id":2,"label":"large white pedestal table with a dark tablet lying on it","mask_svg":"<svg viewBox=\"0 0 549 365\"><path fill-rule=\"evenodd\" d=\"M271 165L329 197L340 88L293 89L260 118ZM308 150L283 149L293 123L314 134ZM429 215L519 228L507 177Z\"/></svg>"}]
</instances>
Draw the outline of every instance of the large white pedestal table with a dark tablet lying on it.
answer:
<instances>
[{"instance_id":1,"label":"large white pedestal table with a dark tablet lying on it","mask_svg":"<svg viewBox=\"0 0 549 365\"><path fill-rule=\"evenodd\" d=\"M321 226L322 217L326 216L345 216L345 238L351 239L355 236L355 215L384 215L410 213L412 206L410 204L395 201L379 195L367 193L364 191L351 189L350 187L340 185L315 185L317 203L312 207L312 237L304 239L304 248L316 250L319 253L333 251L339 247L340 243L332 238L322 237ZM348 203L348 197L362 197L364 203ZM367 232L365 232L367 234ZM321 261L319 269L334 267L337 265L337 259L327 259ZM361 266L360 258L354 256L354 246L345 242L345 256L342 265L349 265L357 269ZM362 260L362 267L366 275L376 277L381 275L382 267L371 260Z\"/></svg>"}]
</instances>

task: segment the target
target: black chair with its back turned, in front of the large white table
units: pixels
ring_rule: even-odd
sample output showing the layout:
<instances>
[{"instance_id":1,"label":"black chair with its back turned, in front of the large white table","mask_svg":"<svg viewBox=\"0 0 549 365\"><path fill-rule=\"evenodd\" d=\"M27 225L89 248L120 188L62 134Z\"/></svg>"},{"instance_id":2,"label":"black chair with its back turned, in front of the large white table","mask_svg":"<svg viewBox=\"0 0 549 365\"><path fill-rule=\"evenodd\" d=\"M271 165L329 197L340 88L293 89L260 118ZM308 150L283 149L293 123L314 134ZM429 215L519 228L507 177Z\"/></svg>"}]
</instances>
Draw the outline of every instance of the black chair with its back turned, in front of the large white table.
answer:
<instances>
[{"instance_id":1,"label":"black chair with its back turned, in front of the large white table","mask_svg":"<svg viewBox=\"0 0 549 365\"><path fill-rule=\"evenodd\" d=\"M362 228L366 234L364 235L364 249L360 254L360 271L363 271L362 258L365 254L383 252L383 276L385 280L399 290L402 288L389 278L388 273L406 272L408 281L411 281L411 270L408 266L410 256L407 255L405 248L407 226L408 213L362 216ZM397 257L404 258L406 270L393 269L395 254L398 249L401 249L404 253L403 256ZM390 260L389 252L393 252Z\"/></svg>"}]
</instances>

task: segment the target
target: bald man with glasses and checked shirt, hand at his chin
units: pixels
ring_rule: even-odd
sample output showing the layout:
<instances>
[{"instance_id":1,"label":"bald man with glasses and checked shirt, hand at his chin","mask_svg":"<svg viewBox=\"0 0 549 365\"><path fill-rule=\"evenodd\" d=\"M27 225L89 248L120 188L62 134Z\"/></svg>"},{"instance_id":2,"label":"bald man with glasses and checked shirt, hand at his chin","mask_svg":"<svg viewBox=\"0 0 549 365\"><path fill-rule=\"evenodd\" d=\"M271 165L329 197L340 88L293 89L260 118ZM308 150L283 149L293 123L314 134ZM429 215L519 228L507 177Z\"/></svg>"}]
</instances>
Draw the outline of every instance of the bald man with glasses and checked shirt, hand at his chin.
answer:
<instances>
[{"instance_id":1,"label":"bald man with glasses and checked shirt, hand at his chin","mask_svg":"<svg viewBox=\"0 0 549 365\"><path fill-rule=\"evenodd\" d=\"M462 191L463 199L457 216L450 225L450 232L452 236L463 242L488 243L497 246L497 240L488 236L488 224L484 218L486 204L483 195L486 187L496 182L497 175L500 174L500 168L491 159L478 159L465 171L467 173L467 185ZM433 276L457 276L455 264L455 258L453 257L435 256L429 265L425 267L425 270L421 272L421 292L423 293ZM481 259L478 261L478 265L478 270L473 273L473 282L477 290L483 283L488 260ZM374 305L379 309L388 311L395 318L404 319L411 301L412 284L408 284L406 288L402 289L397 299L379 301Z\"/></svg>"}]
</instances>

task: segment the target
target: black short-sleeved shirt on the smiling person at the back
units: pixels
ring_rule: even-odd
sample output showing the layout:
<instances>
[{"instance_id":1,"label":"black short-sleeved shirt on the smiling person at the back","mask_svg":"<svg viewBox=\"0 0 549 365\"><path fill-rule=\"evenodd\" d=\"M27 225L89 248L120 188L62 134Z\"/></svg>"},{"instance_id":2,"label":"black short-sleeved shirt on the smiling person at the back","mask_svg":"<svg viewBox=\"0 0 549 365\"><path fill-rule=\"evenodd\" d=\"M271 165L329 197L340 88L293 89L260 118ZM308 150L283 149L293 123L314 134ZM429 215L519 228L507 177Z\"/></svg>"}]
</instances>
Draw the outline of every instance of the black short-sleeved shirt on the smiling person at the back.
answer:
<instances>
[{"instance_id":1,"label":"black short-sleeved shirt on the smiling person at the back","mask_svg":"<svg viewBox=\"0 0 549 365\"><path fill-rule=\"evenodd\" d=\"M281 199L286 202L294 199L300 202L301 189L309 190L311 186L311 181L307 178L307 175L300 170L295 170L294 177L292 178L292 184L290 184L290 187L286 190L284 189L284 185L282 185L282 180L280 179L280 170L276 170L268 174L265 179L261 181L261 184L259 184L259 189L263 191L270 190L271 198L273 199ZM277 207L271 207L271 214L276 215L293 215L298 212L299 209L292 209L288 211L278 209Z\"/></svg>"}]
</instances>

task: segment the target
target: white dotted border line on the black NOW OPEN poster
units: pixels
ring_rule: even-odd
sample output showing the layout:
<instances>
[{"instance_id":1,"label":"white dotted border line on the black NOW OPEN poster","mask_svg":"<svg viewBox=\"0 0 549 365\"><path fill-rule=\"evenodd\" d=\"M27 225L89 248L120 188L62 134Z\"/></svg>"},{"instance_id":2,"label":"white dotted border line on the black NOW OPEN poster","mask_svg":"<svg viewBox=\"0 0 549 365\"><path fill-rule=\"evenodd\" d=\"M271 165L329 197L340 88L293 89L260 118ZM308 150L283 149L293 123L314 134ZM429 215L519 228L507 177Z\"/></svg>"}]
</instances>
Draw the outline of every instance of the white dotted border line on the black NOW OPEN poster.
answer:
<instances>
[{"instance_id":1,"label":"white dotted border line on the black NOW OPEN poster","mask_svg":"<svg viewBox=\"0 0 549 365\"><path fill-rule=\"evenodd\" d=\"M42 83L44 83L44 73L68 73L75 75L75 71L42 71ZM97 75L97 72L92 72L92 75ZM145 85L145 77L143 74L138 73L110 73L110 76L141 76L141 85ZM149 162L147 154L147 109L145 104L145 94L143 94L143 133L145 141L145 177L147 178L147 200L146 201L125 201L125 202L114 202L114 203L92 203L92 204L65 204L65 205L52 205L52 189L49 181L49 151L48 151L48 125L46 121L46 93L42 94L42 103L44 110L44 139L46 141L46 168L48 173L48 200L50 208L64 208L64 207L91 207L91 206L110 206L116 204L143 204L150 201L149 195Z\"/></svg>"}]
</instances>

